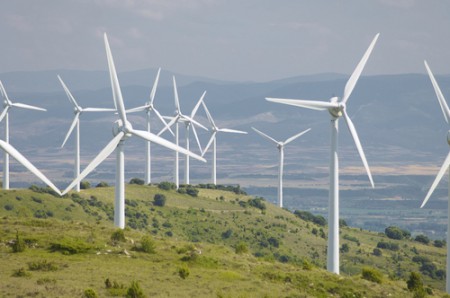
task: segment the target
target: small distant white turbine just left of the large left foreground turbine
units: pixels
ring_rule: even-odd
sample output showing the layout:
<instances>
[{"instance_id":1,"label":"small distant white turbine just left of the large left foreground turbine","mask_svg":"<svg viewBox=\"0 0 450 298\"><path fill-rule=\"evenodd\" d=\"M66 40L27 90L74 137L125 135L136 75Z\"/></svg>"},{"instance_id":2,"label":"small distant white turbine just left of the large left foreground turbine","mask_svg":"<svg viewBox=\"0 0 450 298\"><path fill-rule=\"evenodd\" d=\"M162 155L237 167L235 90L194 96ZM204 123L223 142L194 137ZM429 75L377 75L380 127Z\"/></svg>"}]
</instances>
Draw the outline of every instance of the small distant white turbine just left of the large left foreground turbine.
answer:
<instances>
[{"instance_id":1,"label":"small distant white turbine just left of the large left foreground turbine","mask_svg":"<svg viewBox=\"0 0 450 298\"><path fill-rule=\"evenodd\" d=\"M75 129L75 168L74 168L74 179L75 179L78 177L78 175L80 175L80 115L83 112L114 112L116 111L116 109L82 108L77 103L72 93L70 92L69 88L67 88L66 84L64 84L60 76L58 76L58 79L61 82L61 85L63 86L67 97L69 98L69 101L74 105L75 116L73 118L72 124L70 125L69 131L67 132L66 137L64 138L61 148L64 147L64 145L67 142L67 139L69 139L70 134ZM80 191L80 183L75 185L75 190L78 192Z\"/></svg>"}]
</instances>

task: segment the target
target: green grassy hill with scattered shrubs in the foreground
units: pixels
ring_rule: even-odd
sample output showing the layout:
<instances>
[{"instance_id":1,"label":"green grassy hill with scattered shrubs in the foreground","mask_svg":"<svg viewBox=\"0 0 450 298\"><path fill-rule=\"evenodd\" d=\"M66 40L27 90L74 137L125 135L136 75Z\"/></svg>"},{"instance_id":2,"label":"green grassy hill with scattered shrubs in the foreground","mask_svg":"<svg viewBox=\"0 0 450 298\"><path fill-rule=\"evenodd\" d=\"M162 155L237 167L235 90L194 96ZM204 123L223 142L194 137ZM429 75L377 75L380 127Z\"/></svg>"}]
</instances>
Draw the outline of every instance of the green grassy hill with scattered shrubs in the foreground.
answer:
<instances>
[{"instance_id":1,"label":"green grassy hill with scattered shrubs in the foreground","mask_svg":"<svg viewBox=\"0 0 450 298\"><path fill-rule=\"evenodd\" d=\"M429 296L444 295L445 247L342 227L341 275L330 274L325 226L230 190L129 184L124 231L112 187L0 191L0 296L124 296L137 281L147 297L413 297L413 271ZM380 242L389 245L374 254Z\"/></svg>"}]
</instances>

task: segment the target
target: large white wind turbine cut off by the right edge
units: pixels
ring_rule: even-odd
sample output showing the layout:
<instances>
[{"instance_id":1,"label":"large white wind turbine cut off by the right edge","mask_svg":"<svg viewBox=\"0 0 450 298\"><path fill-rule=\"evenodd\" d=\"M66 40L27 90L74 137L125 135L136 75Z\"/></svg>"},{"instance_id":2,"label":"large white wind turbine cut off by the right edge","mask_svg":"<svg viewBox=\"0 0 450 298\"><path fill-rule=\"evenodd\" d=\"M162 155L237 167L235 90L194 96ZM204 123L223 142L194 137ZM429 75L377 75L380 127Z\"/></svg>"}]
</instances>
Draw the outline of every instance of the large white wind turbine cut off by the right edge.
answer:
<instances>
[{"instance_id":1,"label":"large white wind turbine cut off by the right edge","mask_svg":"<svg viewBox=\"0 0 450 298\"><path fill-rule=\"evenodd\" d=\"M447 102L445 101L444 95L442 94L442 91L439 88L439 85L436 82L436 79L434 78L430 67L428 66L426 61L424 61L424 63L425 63L425 67L428 72L428 76L430 77L431 83L433 84L434 91L436 92L436 96L438 98L439 105L441 106L441 110L444 113L445 122L447 122L447 124L450 124L450 109L448 108L448 105L447 105ZM450 145L450 130L447 133L447 142ZM441 181L442 177L445 175L445 172L448 170L449 174L450 174L449 166L450 166L450 152L447 155L447 158L445 159L444 164L442 165L441 169L439 170L439 172L436 176L436 179L434 180L433 184L431 185L430 190L428 191L427 196L423 200L423 203L420 206L420 208L425 206L428 199L431 197L434 190L436 189L436 186L439 184L439 181ZM449 175L449 179L450 179L450 175ZM450 180L449 180L449 184L450 184ZM449 188L449 192L448 192L448 200L450 203L450 188ZM447 220L447 272L450 272L449 256L450 256L450 206L448 208L448 220ZM445 282L445 290L447 291L447 293L450 293L450 274L449 273L447 273L447 278L446 278L446 282Z\"/></svg>"}]
</instances>

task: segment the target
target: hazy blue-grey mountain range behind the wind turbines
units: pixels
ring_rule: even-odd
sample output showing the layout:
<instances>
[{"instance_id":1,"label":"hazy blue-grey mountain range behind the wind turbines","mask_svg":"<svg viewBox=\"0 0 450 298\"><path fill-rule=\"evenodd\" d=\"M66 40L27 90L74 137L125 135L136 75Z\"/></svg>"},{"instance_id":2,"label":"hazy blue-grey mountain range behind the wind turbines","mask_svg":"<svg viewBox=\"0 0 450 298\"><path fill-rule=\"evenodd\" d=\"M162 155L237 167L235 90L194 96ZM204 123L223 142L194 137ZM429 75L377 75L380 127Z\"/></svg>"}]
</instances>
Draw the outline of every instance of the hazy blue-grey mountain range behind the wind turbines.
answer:
<instances>
[{"instance_id":1,"label":"hazy blue-grey mountain range behind the wind turbines","mask_svg":"<svg viewBox=\"0 0 450 298\"><path fill-rule=\"evenodd\" d=\"M57 74L62 76L82 106L113 106L106 71L59 70L0 74L0 79L12 100L48 109L47 113L22 110L14 110L11 113L11 143L24 154L31 155L43 163L45 158L51 159L53 154L60 158L68 158L72 150L70 140L66 149L58 149L72 121L73 107L56 79ZM155 74L155 69L119 73L127 108L144 104L148 99ZM171 80L173 73L162 70L161 74L155 106L162 114L171 115L174 109ZM296 132L311 127L312 131L290 149L291 152L301 150L303 155L289 153L288 149L287 161L289 162L290 158L291 164L310 165L311 171L328 165L327 112L274 104L264 98L328 100L332 96L341 96L347 75L317 74L263 83L226 82L175 75L183 112L189 113L201 93L206 90L205 102L219 127L249 132L247 136L231 134L219 136L219 159L222 158L222 163L227 164L222 170L219 169L223 175L229 176L236 169L242 171L240 167L248 165L249 161L258 163L258 160L255 160L255 150L262 152L261 156L267 156L272 165L276 163L274 148L254 134L250 129L251 126L277 139L286 139ZM437 76L437 80L444 95L450 97L450 75ZM347 105L371 167L399 163L437 167L445 158L448 151L447 128L430 80L425 74L363 76ZM130 119L135 127L143 129L144 116L142 113L130 114ZM109 140L111 124L116 117L100 113L82 115L81 118L82 155L87 162ZM198 113L198 120L207 124L202 110ZM153 125L155 132L161 128L156 120ZM340 130L342 133L339 146L346 152L341 157L345 161L343 166L360 166L359 157L353 143L350 142L343 121ZM165 137L171 139L170 135ZM208 133L200 132L200 138L205 145ZM183 140L180 142L183 144ZM127 149L128 156L140 154L138 152L142 150L141 147L140 143L130 145L130 149ZM155 154L158 154L158 150L163 152L160 148L155 150ZM317 153L319 151L320 154ZM38 158L39 154L46 157ZM68 167L70 163L71 159L64 159L61 166L70 171L71 168ZM195 171L195 167L193 170ZM170 172L167 169L165 171Z\"/></svg>"}]
</instances>

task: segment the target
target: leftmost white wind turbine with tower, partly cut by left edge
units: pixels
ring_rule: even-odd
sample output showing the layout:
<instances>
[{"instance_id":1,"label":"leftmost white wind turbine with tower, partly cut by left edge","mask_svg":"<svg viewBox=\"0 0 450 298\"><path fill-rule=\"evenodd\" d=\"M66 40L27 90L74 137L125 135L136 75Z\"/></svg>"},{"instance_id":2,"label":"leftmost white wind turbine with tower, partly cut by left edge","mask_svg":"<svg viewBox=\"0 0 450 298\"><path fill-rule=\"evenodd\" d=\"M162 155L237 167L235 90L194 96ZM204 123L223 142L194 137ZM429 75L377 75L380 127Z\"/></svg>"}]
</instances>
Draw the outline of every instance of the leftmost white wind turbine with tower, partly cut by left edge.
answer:
<instances>
[{"instance_id":1,"label":"leftmost white wind turbine with tower, partly cut by left edge","mask_svg":"<svg viewBox=\"0 0 450 298\"><path fill-rule=\"evenodd\" d=\"M27 110L36 110L36 111L47 111L43 108L38 108L35 106L30 106L23 103L11 102L8 98L8 94L6 94L5 87L3 87L2 82L0 81L0 91L2 93L4 103L3 103L3 112L0 114L0 122L5 119L5 142L9 144L9 109L10 108L21 108ZM5 150L4 155L4 164L3 164L3 189L9 189L9 153Z\"/></svg>"}]
</instances>

